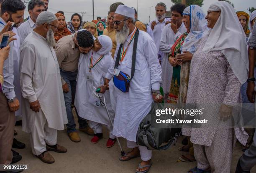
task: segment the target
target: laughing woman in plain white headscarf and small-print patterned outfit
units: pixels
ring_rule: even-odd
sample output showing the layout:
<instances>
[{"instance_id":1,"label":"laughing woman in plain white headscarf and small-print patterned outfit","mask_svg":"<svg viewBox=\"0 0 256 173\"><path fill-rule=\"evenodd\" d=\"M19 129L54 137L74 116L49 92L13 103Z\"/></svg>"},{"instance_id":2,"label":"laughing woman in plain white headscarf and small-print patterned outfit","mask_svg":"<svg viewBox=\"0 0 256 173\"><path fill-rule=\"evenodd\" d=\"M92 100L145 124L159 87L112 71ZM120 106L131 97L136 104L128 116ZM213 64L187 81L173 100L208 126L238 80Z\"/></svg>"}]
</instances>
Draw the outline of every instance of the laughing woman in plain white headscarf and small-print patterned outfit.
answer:
<instances>
[{"instance_id":1,"label":"laughing woman in plain white headscarf and small-print patterned outfit","mask_svg":"<svg viewBox=\"0 0 256 173\"><path fill-rule=\"evenodd\" d=\"M247 80L246 35L225 1L210 5L206 19L211 30L193 55L186 103L202 109L203 115L195 118L208 122L183 128L182 134L190 136L197 160L189 173L230 173L236 139L245 145L248 138L242 127L230 127L233 106L241 105L241 84Z\"/></svg>"}]
</instances>

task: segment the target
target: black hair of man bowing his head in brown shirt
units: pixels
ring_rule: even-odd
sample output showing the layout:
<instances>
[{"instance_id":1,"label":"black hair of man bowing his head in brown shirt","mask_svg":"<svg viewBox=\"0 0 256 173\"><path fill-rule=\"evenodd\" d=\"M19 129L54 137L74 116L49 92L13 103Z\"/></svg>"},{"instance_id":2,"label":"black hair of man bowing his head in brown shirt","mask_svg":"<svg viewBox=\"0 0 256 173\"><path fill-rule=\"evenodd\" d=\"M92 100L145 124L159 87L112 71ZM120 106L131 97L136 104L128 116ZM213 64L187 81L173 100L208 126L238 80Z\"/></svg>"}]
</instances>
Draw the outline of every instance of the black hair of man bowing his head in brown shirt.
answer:
<instances>
[{"instance_id":1,"label":"black hair of man bowing his head in brown shirt","mask_svg":"<svg viewBox=\"0 0 256 173\"><path fill-rule=\"evenodd\" d=\"M79 47L90 48L93 45L93 36L87 30L82 30L77 32L77 43Z\"/></svg>"}]
</instances>

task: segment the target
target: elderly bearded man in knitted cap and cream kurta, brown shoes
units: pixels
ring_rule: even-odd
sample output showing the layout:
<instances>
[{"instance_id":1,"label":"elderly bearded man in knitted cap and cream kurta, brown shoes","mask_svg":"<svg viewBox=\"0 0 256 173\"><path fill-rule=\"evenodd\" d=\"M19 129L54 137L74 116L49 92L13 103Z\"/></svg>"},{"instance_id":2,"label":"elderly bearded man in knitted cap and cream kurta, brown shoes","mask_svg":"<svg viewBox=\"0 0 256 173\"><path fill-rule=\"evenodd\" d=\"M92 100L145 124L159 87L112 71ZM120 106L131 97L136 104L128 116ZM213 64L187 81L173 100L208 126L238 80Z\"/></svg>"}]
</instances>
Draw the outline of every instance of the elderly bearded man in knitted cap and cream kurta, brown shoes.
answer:
<instances>
[{"instance_id":1,"label":"elderly bearded man in knitted cap and cream kurta, brown shoes","mask_svg":"<svg viewBox=\"0 0 256 173\"><path fill-rule=\"evenodd\" d=\"M32 153L45 163L54 163L48 151L67 152L57 144L57 130L64 130L67 124L59 64L53 48L57 27L53 13L40 13L36 28L20 48L22 128L30 133Z\"/></svg>"}]
</instances>

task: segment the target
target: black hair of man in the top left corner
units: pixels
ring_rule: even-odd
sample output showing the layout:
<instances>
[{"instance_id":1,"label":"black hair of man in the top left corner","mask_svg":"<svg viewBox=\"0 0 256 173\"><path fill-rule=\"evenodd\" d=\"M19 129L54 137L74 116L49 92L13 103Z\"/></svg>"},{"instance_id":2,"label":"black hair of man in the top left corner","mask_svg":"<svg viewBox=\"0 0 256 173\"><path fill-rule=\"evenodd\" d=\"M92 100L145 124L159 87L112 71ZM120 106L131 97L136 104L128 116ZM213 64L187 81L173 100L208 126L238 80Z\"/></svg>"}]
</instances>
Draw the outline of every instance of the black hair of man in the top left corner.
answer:
<instances>
[{"instance_id":1,"label":"black hair of man in the top left corner","mask_svg":"<svg viewBox=\"0 0 256 173\"><path fill-rule=\"evenodd\" d=\"M1 5L1 15L4 13L17 13L17 11L24 10L26 6L21 0L4 0Z\"/></svg>"}]
</instances>

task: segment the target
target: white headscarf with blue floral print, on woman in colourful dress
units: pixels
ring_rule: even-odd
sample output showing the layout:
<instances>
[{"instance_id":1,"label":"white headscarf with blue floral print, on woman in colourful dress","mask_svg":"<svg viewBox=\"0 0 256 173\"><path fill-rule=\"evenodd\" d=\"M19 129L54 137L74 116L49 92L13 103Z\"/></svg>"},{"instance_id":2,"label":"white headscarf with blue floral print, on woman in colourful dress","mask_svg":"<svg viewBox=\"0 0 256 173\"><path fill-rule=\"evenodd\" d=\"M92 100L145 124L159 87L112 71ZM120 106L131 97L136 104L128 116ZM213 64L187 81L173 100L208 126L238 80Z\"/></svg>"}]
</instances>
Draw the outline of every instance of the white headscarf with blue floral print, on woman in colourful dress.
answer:
<instances>
[{"instance_id":1,"label":"white headscarf with blue floral print, on woman in colourful dress","mask_svg":"<svg viewBox=\"0 0 256 173\"><path fill-rule=\"evenodd\" d=\"M189 51L194 54L197 44L206 33L204 33L204 31L208 30L205 13L200 6L190 5L185 8L183 15L188 15L190 18L190 32L184 40L181 51Z\"/></svg>"}]
</instances>

